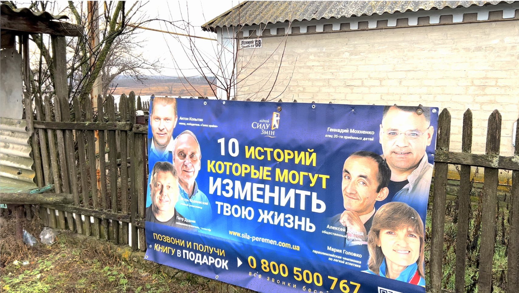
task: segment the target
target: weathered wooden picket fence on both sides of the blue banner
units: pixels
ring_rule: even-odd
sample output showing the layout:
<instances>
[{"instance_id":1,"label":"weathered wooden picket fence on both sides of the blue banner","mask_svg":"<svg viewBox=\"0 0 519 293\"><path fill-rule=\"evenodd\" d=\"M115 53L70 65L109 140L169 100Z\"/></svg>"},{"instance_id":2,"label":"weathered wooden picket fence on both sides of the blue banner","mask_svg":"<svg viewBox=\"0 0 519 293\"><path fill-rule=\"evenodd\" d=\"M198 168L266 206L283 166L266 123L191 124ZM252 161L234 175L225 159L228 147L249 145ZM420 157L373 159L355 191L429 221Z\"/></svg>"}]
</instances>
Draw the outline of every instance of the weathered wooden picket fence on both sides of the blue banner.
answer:
<instances>
[{"instance_id":1,"label":"weathered wooden picket fence on both sides of the blue banner","mask_svg":"<svg viewBox=\"0 0 519 293\"><path fill-rule=\"evenodd\" d=\"M135 116L135 111L142 108L140 97L135 99L133 92L122 95L118 112L112 96L105 99L100 96L98 109L92 109L89 102L79 103L74 99L71 111L60 109L66 103L53 103L47 97L44 100L42 103L36 96L32 105L35 115L27 117L30 131L35 130L32 146L36 180L39 186L54 184L56 193L72 193L74 204L41 206L39 216L43 224L119 244L131 243L134 249L145 250L147 122L139 117L139 124ZM32 108L30 104L26 107ZM495 110L488 119L486 154L472 154L472 113L467 110L463 117L462 151L449 151L447 109L439 119L432 208L429 206L432 227L427 231L428 289L434 293L445 291L454 274L452 289L458 293L472 292L476 286L479 293L489 293L493 286L506 288L507 293L516 292L519 288L519 135L515 138L514 156L499 156L501 115ZM95 149L96 139L99 149ZM455 201L446 198L448 164L460 165ZM96 166L101 172L97 172ZM485 183L480 193L472 188L471 166L484 168ZM497 199L499 169L512 171L504 207L500 207ZM479 203L471 202L474 192ZM502 225L496 223L498 209ZM454 237L447 237L446 227L455 230ZM504 257L508 259L508 269L501 271L495 264L498 239L500 247L505 246ZM455 255L455 259L447 265L449 254ZM470 267L467 259L471 261L469 256L473 254L475 272L467 272Z\"/></svg>"}]
</instances>

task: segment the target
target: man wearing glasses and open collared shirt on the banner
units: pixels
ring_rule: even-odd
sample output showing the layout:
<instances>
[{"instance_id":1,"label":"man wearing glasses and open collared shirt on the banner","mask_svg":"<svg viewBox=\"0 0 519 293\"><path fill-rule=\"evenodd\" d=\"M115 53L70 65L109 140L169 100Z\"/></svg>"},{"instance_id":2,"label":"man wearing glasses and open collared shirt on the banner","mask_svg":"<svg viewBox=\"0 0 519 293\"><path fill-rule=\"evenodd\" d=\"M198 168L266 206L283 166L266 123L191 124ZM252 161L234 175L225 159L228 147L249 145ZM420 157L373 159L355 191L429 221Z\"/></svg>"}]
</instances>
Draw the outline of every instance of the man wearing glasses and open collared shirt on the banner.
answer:
<instances>
[{"instance_id":1,"label":"man wearing glasses and open collared shirt on the banner","mask_svg":"<svg viewBox=\"0 0 519 293\"><path fill-rule=\"evenodd\" d=\"M434 128L429 107L384 107L379 142L391 169L389 193L385 201L405 202L425 222L431 186L432 164L426 148L431 144Z\"/></svg>"}]
</instances>

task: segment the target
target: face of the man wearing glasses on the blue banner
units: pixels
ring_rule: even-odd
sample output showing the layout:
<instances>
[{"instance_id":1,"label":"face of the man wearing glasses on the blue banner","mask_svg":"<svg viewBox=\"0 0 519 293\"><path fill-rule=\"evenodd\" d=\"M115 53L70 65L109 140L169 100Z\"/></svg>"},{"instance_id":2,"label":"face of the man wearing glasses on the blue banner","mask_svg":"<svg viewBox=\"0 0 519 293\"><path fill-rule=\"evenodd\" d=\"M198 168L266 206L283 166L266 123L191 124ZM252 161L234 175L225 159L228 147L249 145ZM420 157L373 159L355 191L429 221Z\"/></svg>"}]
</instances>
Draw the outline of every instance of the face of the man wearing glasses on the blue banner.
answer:
<instances>
[{"instance_id":1,"label":"face of the man wearing glasses on the blue banner","mask_svg":"<svg viewBox=\"0 0 519 293\"><path fill-rule=\"evenodd\" d=\"M380 144L392 172L412 172L431 144L433 127L424 115L392 107L380 124Z\"/></svg>"}]
</instances>

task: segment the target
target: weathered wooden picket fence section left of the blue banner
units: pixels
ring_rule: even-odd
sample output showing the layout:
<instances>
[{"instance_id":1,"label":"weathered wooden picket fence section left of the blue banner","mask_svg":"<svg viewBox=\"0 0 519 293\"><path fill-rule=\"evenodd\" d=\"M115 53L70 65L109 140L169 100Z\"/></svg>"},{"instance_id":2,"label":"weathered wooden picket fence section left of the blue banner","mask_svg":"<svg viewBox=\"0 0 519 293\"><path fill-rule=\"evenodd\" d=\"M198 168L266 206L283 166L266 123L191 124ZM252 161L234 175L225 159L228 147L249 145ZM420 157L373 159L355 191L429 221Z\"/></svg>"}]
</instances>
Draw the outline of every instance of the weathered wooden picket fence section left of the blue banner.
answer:
<instances>
[{"instance_id":1,"label":"weathered wooden picket fence section left of the blue banner","mask_svg":"<svg viewBox=\"0 0 519 293\"><path fill-rule=\"evenodd\" d=\"M76 98L71 111L62 111L61 103L35 96L30 124L39 144L32 147L35 164L42 166L35 168L36 181L74 196L73 205L42 205L44 225L145 249L147 124L136 121L142 108L137 100L133 92L122 95L116 112L113 96L100 96L98 109ZM66 112L72 115L63 117Z\"/></svg>"}]
</instances>

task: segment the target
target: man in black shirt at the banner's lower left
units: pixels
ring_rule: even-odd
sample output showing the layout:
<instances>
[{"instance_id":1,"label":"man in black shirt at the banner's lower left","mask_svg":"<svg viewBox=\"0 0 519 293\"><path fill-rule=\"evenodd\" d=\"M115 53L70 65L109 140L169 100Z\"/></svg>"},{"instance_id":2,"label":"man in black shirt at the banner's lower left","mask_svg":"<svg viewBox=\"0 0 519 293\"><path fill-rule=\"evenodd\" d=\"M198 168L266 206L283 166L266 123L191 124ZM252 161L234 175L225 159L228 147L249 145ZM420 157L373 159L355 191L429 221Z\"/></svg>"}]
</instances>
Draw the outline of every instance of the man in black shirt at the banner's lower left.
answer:
<instances>
[{"instance_id":1,"label":"man in black shirt at the banner's lower left","mask_svg":"<svg viewBox=\"0 0 519 293\"><path fill-rule=\"evenodd\" d=\"M173 227L186 228L180 225L185 218L175 210L179 199L178 176L169 162L156 162L153 166L151 183L152 204L146 208L146 221Z\"/></svg>"}]
</instances>

